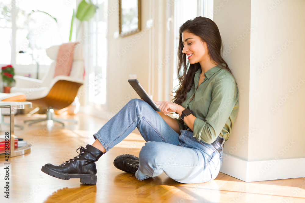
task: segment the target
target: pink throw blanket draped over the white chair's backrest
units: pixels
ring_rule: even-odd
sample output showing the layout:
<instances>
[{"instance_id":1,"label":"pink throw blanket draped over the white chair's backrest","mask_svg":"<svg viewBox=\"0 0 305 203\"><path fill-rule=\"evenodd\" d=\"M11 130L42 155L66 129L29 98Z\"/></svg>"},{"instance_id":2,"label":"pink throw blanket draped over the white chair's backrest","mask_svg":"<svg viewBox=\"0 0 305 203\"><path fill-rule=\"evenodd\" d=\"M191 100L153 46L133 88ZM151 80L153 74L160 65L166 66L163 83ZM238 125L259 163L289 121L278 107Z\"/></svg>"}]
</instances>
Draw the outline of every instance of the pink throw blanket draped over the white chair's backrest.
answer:
<instances>
[{"instance_id":1,"label":"pink throw blanket draped over the white chair's backrest","mask_svg":"<svg viewBox=\"0 0 305 203\"><path fill-rule=\"evenodd\" d=\"M55 72L53 77L56 77L57 75L70 75L73 63L74 47L76 44L77 42L69 42L60 45L56 58Z\"/></svg>"}]
</instances>

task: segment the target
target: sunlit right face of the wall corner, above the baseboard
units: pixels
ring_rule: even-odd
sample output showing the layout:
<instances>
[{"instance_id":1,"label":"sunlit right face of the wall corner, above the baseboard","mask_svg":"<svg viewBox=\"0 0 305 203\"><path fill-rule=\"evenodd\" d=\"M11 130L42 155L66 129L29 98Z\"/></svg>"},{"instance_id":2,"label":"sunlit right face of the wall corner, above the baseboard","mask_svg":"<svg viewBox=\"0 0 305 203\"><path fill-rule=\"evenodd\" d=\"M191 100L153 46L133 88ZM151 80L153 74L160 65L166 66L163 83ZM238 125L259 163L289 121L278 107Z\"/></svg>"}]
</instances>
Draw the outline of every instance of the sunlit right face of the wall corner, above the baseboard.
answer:
<instances>
[{"instance_id":1,"label":"sunlit right face of the wall corner, above the baseboard","mask_svg":"<svg viewBox=\"0 0 305 203\"><path fill-rule=\"evenodd\" d=\"M249 126L258 135L249 138L251 161L305 157L305 1L272 2L251 1Z\"/></svg>"}]
</instances>

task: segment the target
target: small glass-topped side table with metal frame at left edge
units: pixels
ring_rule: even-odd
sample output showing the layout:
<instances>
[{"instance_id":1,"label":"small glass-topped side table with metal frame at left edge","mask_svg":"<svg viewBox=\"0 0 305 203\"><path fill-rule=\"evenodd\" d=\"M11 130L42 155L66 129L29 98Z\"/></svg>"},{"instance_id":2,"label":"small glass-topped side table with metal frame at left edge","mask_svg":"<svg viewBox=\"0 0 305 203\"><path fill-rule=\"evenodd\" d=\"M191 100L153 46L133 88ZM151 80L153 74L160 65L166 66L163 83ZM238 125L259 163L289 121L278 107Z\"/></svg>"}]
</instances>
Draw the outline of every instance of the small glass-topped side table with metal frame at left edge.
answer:
<instances>
[{"instance_id":1,"label":"small glass-topped side table with metal frame at left edge","mask_svg":"<svg viewBox=\"0 0 305 203\"><path fill-rule=\"evenodd\" d=\"M27 143L25 146L18 147L15 149L14 141L15 141L15 133L14 133L14 109L25 109L25 108L31 108L32 103L31 102L0 102L0 108L9 108L10 110L10 127L9 127L9 138L10 138L10 156L19 156L26 153L29 153L32 149L32 145Z\"/></svg>"}]
</instances>

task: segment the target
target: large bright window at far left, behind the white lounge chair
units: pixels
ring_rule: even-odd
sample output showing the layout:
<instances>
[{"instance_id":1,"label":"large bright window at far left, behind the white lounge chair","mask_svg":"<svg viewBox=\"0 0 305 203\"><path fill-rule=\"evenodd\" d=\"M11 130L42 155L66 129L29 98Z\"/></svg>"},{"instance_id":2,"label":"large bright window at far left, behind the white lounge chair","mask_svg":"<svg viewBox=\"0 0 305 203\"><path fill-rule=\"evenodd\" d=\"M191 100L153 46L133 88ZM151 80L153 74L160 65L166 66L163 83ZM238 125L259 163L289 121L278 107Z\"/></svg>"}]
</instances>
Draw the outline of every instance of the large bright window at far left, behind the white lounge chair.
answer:
<instances>
[{"instance_id":1,"label":"large bright window at far left, behind the white lounge chair","mask_svg":"<svg viewBox=\"0 0 305 203\"><path fill-rule=\"evenodd\" d=\"M51 63L45 53L46 48L69 41L76 2L2 0L0 9L0 64L34 68L37 62L40 65Z\"/></svg>"}]
</instances>

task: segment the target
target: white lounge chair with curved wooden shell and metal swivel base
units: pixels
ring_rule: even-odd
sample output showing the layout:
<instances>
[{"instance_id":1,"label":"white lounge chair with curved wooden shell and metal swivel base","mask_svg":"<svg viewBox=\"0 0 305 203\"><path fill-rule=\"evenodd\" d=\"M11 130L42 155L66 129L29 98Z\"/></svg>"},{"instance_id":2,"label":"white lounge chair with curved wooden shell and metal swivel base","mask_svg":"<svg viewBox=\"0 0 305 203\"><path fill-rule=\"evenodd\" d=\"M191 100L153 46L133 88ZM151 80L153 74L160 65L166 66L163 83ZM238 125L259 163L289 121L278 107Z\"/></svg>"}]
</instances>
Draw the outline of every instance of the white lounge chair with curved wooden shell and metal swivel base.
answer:
<instances>
[{"instance_id":1,"label":"white lounge chair with curved wooden shell and metal swivel base","mask_svg":"<svg viewBox=\"0 0 305 203\"><path fill-rule=\"evenodd\" d=\"M25 123L29 122L29 125L51 120L61 123L63 126L64 123L61 121L77 123L75 120L54 118L53 109L63 109L69 106L77 96L77 91L84 82L83 51L80 45L75 46L73 64L69 76L58 75L53 78L59 46L52 46L46 50L48 57L54 61L43 79L14 76L16 84L15 87L11 88L11 93L24 93L27 101L48 107L46 118L24 121Z\"/></svg>"}]
</instances>

